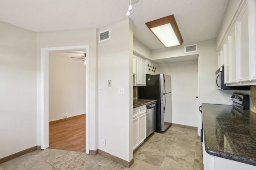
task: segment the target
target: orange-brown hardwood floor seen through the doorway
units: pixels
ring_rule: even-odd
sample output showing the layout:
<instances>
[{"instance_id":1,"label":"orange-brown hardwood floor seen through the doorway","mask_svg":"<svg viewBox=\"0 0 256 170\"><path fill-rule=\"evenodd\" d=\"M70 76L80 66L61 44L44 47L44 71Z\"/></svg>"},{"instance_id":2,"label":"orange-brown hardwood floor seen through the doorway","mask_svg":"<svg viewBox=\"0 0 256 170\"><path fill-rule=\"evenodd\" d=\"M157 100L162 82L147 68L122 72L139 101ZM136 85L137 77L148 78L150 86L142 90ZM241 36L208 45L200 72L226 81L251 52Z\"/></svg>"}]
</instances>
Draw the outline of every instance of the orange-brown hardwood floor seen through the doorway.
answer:
<instances>
[{"instance_id":1,"label":"orange-brown hardwood floor seen through the doorway","mask_svg":"<svg viewBox=\"0 0 256 170\"><path fill-rule=\"evenodd\" d=\"M49 123L49 148L86 151L85 114Z\"/></svg>"}]
</instances>

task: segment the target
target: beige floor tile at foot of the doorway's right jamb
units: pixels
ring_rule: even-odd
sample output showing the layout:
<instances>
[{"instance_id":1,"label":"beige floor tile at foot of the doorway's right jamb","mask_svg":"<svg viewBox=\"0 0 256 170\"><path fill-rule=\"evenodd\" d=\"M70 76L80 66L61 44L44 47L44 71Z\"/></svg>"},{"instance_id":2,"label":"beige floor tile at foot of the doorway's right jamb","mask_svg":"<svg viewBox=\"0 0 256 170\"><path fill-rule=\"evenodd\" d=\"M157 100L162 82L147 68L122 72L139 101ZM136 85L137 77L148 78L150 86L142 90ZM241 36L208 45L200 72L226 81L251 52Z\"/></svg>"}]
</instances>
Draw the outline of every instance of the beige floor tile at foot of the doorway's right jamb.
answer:
<instances>
[{"instance_id":1,"label":"beige floor tile at foot of the doorway's right jamb","mask_svg":"<svg viewBox=\"0 0 256 170\"><path fill-rule=\"evenodd\" d=\"M100 162L103 158L104 156L101 156L100 154L89 155L82 153L59 166L57 170L88 170Z\"/></svg>"}]
</instances>

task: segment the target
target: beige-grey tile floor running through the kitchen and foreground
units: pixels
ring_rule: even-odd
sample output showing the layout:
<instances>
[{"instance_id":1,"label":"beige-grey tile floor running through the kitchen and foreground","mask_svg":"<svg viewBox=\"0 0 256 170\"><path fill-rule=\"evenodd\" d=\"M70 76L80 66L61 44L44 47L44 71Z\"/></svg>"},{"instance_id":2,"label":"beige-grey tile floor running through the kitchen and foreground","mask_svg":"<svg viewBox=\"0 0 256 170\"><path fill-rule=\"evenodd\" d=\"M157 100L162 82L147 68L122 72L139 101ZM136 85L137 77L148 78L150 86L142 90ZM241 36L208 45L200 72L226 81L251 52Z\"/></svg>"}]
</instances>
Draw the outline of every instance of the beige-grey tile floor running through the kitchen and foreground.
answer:
<instances>
[{"instance_id":1,"label":"beige-grey tile floor running through the kitchen and foreground","mask_svg":"<svg viewBox=\"0 0 256 170\"><path fill-rule=\"evenodd\" d=\"M152 134L134 152L126 168L100 154L81 151L35 150L0 164L0 170L203 170L201 143L196 130L171 126Z\"/></svg>"}]
</instances>

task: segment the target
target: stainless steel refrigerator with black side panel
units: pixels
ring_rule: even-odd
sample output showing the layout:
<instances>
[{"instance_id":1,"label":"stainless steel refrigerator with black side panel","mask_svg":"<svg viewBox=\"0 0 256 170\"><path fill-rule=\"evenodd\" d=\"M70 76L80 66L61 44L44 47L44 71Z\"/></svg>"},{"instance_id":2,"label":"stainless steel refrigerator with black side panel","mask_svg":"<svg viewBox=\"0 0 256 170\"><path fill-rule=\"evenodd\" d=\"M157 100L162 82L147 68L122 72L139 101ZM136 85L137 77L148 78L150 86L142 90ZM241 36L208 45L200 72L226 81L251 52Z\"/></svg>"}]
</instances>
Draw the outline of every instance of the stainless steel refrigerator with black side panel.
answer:
<instances>
[{"instance_id":1,"label":"stainless steel refrigerator with black side panel","mask_svg":"<svg viewBox=\"0 0 256 170\"><path fill-rule=\"evenodd\" d=\"M138 98L156 99L156 131L164 132L172 124L171 76L146 74L146 86L138 86Z\"/></svg>"}]
</instances>

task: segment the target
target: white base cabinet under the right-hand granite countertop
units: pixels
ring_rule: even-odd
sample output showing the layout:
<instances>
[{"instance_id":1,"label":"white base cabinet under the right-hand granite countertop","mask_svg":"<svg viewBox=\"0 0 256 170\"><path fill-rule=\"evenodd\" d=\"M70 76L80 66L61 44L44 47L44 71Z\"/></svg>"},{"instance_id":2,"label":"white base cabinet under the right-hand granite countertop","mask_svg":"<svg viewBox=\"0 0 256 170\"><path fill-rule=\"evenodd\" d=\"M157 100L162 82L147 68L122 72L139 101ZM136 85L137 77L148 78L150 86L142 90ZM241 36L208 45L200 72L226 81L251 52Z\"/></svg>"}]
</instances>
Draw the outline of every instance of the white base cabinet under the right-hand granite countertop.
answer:
<instances>
[{"instance_id":1,"label":"white base cabinet under the right-hand granite countertop","mask_svg":"<svg viewBox=\"0 0 256 170\"><path fill-rule=\"evenodd\" d=\"M204 142L202 145L204 170L256 170L253 165L210 155L205 151Z\"/></svg>"}]
</instances>

